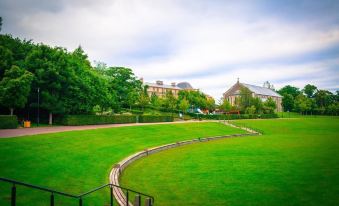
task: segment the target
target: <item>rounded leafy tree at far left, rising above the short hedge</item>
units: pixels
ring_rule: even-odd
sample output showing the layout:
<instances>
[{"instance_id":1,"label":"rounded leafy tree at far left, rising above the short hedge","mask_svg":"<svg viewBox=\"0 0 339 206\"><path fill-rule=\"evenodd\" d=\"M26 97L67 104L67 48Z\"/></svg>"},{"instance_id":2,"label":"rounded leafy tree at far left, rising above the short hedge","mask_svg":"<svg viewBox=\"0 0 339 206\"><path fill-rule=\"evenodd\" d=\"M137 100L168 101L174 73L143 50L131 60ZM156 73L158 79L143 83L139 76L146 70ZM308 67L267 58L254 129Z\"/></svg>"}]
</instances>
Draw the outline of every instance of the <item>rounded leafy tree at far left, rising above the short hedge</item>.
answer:
<instances>
[{"instance_id":1,"label":"rounded leafy tree at far left, rising above the short hedge","mask_svg":"<svg viewBox=\"0 0 339 206\"><path fill-rule=\"evenodd\" d=\"M15 108L25 106L32 80L33 74L18 66L12 66L5 72L0 81L0 104L10 109L11 115Z\"/></svg>"}]
</instances>

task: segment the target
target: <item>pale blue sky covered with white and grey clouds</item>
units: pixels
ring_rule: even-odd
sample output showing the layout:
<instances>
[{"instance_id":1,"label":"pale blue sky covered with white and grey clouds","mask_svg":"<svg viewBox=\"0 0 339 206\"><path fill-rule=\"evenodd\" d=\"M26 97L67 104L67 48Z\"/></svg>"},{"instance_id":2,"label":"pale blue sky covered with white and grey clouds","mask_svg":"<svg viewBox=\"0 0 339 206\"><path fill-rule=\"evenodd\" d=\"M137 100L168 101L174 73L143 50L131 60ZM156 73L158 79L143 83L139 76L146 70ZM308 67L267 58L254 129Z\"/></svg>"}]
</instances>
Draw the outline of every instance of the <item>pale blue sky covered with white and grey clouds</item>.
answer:
<instances>
[{"instance_id":1,"label":"pale blue sky covered with white and grey clouds","mask_svg":"<svg viewBox=\"0 0 339 206\"><path fill-rule=\"evenodd\" d=\"M339 89L339 0L1 0L2 33L188 81L219 99L241 82Z\"/></svg>"}]
</instances>

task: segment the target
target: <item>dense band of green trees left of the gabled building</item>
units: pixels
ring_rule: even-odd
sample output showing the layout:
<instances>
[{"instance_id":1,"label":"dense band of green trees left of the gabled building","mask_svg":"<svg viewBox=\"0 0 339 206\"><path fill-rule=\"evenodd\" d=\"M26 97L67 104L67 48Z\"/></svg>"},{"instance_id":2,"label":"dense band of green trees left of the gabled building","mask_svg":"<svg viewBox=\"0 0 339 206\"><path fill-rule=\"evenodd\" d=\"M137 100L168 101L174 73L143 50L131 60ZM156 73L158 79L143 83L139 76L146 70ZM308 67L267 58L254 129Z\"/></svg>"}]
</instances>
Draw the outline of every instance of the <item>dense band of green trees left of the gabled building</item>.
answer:
<instances>
[{"instance_id":1,"label":"dense band of green trees left of the gabled building","mask_svg":"<svg viewBox=\"0 0 339 206\"><path fill-rule=\"evenodd\" d=\"M67 51L0 35L1 113L27 113L39 106L52 123L55 114L118 113L147 106L186 111L191 105L213 109L214 102L199 91L181 91L178 98L171 93L149 97L131 69L102 62L92 66L81 46Z\"/></svg>"}]
</instances>

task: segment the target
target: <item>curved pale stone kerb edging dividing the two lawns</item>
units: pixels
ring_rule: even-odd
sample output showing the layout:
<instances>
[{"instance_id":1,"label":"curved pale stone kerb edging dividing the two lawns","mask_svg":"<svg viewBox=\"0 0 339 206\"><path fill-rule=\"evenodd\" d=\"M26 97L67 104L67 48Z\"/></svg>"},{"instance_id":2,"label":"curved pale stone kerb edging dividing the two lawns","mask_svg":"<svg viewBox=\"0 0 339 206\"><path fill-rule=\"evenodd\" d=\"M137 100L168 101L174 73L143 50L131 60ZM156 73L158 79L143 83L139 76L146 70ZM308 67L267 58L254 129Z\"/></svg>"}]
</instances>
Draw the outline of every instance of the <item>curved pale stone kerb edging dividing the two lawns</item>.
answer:
<instances>
[{"instance_id":1,"label":"curved pale stone kerb edging dividing the two lawns","mask_svg":"<svg viewBox=\"0 0 339 206\"><path fill-rule=\"evenodd\" d=\"M193 144L193 143L198 143L198 142L206 142L206 141L210 141L210 140L217 140L217 139L223 139L223 138L261 135L260 133L254 131L254 130L251 130L249 128L238 127L238 126L233 125L231 123L224 123L224 124L231 126L231 127L235 127L235 128L245 130L249 133L232 134L232 135L215 136L215 137L206 137L206 138L197 138L197 139L184 140L184 141L179 141L179 142L175 142L175 143L170 143L170 144L166 144L166 145L162 145L162 146L158 146L158 147L145 149L144 151L140 151L140 152L137 152L137 153L135 153L131 156L126 157L125 159L120 161L118 164L114 165L113 169L111 170L111 173L110 173L110 183L114 184L114 185L120 185L119 184L120 174L129 164L131 164L135 160L138 160L142 157L145 157L145 156L148 156L148 155L151 155L151 154L163 151L163 150L168 150L168 149L180 147L180 146L183 146L183 145L188 145L188 144ZM120 188L114 187L113 188L113 195L116 198L116 200L117 200L117 202L120 206L126 206L126 196ZM129 206L133 206L133 204L129 203Z\"/></svg>"}]
</instances>

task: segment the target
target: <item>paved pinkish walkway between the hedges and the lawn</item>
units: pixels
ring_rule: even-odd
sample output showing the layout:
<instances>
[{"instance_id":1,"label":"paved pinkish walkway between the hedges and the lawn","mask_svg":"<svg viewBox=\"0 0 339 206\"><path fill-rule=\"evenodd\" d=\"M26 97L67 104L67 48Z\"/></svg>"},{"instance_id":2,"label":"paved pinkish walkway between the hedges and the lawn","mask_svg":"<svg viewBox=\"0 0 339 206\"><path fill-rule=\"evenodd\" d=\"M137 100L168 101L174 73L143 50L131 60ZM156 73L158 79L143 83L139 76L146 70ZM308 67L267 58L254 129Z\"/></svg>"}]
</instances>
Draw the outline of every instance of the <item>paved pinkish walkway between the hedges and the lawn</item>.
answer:
<instances>
[{"instance_id":1,"label":"paved pinkish walkway between the hedges and the lawn","mask_svg":"<svg viewBox=\"0 0 339 206\"><path fill-rule=\"evenodd\" d=\"M179 121L179 122L157 122L157 123L131 123L131 124L104 124L104 125L84 125L84 126L53 126L53 127L35 127L35 128L19 128L19 129L0 129L0 138L19 137L35 134L47 134L75 130L100 129L110 127L129 127L140 125L155 124L182 124L197 121ZM205 121L206 122L206 121Z\"/></svg>"}]
</instances>

